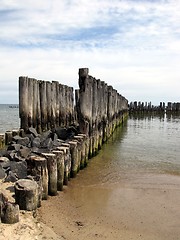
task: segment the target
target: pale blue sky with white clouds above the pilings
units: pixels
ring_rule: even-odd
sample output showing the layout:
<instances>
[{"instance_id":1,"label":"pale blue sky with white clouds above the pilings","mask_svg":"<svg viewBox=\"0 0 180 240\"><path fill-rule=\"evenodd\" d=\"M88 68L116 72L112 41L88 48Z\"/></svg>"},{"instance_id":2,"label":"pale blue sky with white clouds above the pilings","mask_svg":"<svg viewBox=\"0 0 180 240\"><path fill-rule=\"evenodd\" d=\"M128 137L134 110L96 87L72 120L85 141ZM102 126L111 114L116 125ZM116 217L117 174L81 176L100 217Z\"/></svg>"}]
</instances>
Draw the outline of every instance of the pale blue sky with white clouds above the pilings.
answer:
<instances>
[{"instance_id":1,"label":"pale blue sky with white clouds above the pilings","mask_svg":"<svg viewBox=\"0 0 180 240\"><path fill-rule=\"evenodd\" d=\"M0 0L0 104L19 76L78 88L78 69L131 101L180 101L180 0Z\"/></svg>"}]
</instances>

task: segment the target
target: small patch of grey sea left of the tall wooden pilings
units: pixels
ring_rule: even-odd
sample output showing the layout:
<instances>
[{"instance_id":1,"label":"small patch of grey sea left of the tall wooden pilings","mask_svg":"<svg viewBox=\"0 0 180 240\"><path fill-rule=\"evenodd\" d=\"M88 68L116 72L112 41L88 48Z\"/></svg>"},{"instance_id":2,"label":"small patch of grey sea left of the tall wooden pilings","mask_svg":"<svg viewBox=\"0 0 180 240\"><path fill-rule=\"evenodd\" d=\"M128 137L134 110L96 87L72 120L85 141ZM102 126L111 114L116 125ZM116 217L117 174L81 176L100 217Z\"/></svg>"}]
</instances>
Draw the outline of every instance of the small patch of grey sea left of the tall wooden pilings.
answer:
<instances>
[{"instance_id":1,"label":"small patch of grey sea left of the tall wooden pilings","mask_svg":"<svg viewBox=\"0 0 180 240\"><path fill-rule=\"evenodd\" d=\"M0 104L0 133L19 128L19 108L17 104Z\"/></svg>"}]
</instances>

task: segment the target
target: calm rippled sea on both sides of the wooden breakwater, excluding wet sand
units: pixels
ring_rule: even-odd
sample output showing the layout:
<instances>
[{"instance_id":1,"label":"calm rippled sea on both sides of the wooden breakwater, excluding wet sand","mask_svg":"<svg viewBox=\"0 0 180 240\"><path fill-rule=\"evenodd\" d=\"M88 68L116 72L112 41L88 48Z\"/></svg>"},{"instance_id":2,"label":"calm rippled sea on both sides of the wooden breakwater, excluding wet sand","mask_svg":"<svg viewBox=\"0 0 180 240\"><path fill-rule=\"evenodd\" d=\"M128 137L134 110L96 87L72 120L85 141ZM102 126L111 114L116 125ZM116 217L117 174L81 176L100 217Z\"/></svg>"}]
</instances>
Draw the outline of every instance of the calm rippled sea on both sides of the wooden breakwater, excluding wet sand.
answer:
<instances>
[{"instance_id":1,"label":"calm rippled sea on both sides of the wooden breakwater, excluding wet sand","mask_svg":"<svg viewBox=\"0 0 180 240\"><path fill-rule=\"evenodd\" d=\"M18 106L0 104L0 133L18 128ZM179 144L180 115L129 116L93 159L91 167L96 168L96 176L101 172L102 181L112 182L135 173L180 175Z\"/></svg>"}]
</instances>

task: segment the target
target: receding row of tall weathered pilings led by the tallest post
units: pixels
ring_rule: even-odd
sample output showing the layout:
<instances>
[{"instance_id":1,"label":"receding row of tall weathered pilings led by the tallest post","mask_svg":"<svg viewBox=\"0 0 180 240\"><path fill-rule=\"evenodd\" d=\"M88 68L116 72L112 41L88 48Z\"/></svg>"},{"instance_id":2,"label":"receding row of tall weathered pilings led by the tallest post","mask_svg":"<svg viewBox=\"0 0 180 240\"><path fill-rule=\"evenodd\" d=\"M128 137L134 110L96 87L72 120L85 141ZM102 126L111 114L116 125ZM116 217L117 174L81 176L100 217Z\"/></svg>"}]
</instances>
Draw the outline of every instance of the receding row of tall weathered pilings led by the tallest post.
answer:
<instances>
[{"instance_id":1,"label":"receding row of tall weathered pilings led by the tallest post","mask_svg":"<svg viewBox=\"0 0 180 240\"><path fill-rule=\"evenodd\" d=\"M89 136L89 157L94 156L122 121L128 101L112 86L79 69L76 109L81 133Z\"/></svg>"}]
</instances>

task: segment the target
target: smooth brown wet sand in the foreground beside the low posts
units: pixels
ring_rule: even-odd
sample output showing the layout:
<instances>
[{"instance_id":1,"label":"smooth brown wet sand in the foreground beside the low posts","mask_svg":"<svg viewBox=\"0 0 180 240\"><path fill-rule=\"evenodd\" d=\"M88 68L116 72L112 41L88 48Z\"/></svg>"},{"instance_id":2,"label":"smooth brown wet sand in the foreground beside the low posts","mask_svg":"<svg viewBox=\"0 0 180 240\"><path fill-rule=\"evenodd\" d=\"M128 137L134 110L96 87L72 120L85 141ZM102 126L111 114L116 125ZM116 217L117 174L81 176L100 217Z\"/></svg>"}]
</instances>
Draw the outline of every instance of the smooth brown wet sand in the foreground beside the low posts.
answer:
<instances>
[{"instance_id":1,"label":"smooth brown wet sand in the foreground beside the low posts","mask_svg":"<svg viewBox=\"0 0 180 240\"><path fill-rule=\"evenodd\" d=\"M180 239L180 176L129 175L121 182L88 180L86 170L64 192L43 201L41 221L59 239Z\"/></svg>"}]
</instances>

